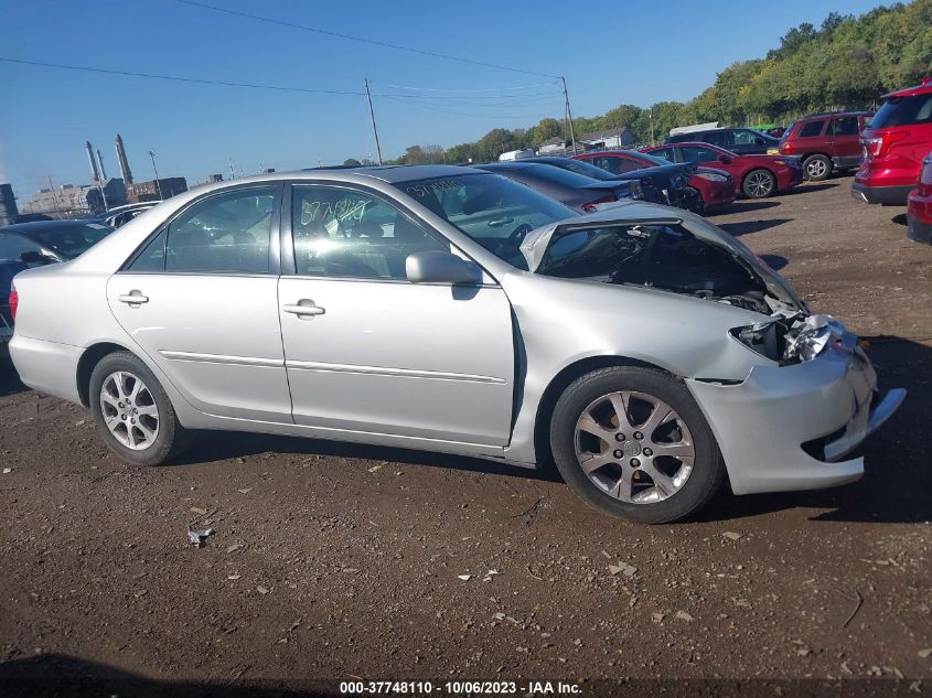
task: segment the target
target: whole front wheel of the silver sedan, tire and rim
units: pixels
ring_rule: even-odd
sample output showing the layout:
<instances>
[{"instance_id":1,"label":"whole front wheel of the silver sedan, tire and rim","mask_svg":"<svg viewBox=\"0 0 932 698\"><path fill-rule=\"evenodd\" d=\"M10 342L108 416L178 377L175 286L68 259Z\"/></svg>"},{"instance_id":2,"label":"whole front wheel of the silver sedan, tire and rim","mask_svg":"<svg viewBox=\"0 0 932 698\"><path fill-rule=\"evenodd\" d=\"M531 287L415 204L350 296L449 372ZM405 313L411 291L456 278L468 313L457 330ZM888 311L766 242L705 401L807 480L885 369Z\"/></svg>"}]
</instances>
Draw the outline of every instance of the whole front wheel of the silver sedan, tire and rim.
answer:
<instances>
[{"instance_id":1,"label":"whole front wheel of the silver sedan, tire and rim","mask_svg":"<svg viewBox=\"0 0 932 698\"><path fill-rule=\"evenodd\" d=\"M550 421L564 481L610 516L644 524L685 518L725 481L715 436L683 382L617 366L564 390Z\"/></svg>"}]
</instances>

